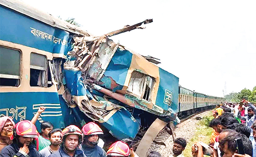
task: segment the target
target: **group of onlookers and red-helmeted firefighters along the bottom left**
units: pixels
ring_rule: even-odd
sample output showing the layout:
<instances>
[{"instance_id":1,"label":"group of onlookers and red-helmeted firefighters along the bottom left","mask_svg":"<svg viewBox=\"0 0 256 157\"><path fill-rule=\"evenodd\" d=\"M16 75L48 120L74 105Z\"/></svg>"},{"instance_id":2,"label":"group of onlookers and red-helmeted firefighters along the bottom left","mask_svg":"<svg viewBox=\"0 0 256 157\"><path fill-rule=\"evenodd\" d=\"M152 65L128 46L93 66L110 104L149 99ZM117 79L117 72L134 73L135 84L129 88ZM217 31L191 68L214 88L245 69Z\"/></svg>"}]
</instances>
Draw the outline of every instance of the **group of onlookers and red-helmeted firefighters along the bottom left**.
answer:
<instances>
[{"instance_id":1,"label":"group of onlookers and red-helmeted firefighters along the bottom left","mask_svg":"<svg viewBox=\"0 0 256 157\"><path fill-rule=\"evenodd\" d=\"M81 130L75 125L53 129L50 122L43 122L39 134L35 122L44 110L41 106L31 121L17 124L10 116L0 118L0 157L138 157L131 139L117 141L105 152L99 142L103 131L94 122ZM155 152L149 155L159 157Z\"/></svg>"}]
</instances>

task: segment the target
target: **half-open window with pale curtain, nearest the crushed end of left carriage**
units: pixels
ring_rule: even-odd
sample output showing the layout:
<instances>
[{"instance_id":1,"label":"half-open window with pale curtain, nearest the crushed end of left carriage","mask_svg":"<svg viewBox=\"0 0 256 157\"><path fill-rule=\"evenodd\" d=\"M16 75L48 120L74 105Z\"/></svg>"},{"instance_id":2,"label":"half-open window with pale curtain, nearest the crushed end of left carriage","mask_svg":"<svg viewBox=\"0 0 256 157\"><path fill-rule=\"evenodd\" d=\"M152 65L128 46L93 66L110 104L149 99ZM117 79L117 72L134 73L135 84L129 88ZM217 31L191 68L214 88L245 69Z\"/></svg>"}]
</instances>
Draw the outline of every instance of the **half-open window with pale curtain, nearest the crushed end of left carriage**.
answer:
<instances>
[{"instance_id":1,"label":"half-open window with pale curtain, nearest the crushed end of left carriage","mask_svg":"<svg viewBox=\"0 0 256 157\"><path fill-rule=\"evenodd\" d=\"M32 52L30 55L30 86L47 87L47 80L46 56Z\"/></svg>"}]
</instances>

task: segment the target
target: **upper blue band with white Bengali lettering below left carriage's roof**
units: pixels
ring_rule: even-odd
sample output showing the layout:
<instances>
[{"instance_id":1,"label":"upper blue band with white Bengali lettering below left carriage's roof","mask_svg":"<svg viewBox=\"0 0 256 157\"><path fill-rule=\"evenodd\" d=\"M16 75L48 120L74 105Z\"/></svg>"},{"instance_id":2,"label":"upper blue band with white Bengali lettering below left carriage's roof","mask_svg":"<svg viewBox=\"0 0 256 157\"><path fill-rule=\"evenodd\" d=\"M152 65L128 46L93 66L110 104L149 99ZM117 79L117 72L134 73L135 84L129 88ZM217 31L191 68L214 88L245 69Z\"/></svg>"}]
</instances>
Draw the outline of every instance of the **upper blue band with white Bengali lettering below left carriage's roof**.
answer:
<instances>
[{"instance_id":1,"label":"upper blue band with white Bengali lettering below left carriage's roof","mask_svg":"<svg viewBox=\"0 0 256 157\"><path fill-rule=\"evenodd\" d=\"M72 49L73 33L49 26L2 5L0 19L0 40L64 55Z\"/></svg>"}]
</instances>

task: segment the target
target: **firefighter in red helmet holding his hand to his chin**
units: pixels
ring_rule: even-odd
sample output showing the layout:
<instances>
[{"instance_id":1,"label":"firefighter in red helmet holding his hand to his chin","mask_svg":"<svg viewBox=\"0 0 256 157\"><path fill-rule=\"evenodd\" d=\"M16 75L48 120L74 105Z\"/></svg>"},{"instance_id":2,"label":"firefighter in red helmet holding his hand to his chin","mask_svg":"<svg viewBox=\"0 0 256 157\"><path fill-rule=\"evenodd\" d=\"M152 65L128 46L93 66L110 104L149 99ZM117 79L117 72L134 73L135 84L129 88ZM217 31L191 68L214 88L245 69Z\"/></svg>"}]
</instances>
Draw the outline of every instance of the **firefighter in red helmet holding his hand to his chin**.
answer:
<instances>
[{"instance_id":1,"label":"firefighter in red helmet holding his hand to his chin","mask_svg":"<svg viewBox=\"0 0 256 157\"><path fill-rule=\"evenodd\" d=\"M41 157L32 143L33 138L38 137L38 131L32 122L23 120L14 126L13 140L11 145L7 145L0 152L0 157Z\"/></svg>"}]
</instances>

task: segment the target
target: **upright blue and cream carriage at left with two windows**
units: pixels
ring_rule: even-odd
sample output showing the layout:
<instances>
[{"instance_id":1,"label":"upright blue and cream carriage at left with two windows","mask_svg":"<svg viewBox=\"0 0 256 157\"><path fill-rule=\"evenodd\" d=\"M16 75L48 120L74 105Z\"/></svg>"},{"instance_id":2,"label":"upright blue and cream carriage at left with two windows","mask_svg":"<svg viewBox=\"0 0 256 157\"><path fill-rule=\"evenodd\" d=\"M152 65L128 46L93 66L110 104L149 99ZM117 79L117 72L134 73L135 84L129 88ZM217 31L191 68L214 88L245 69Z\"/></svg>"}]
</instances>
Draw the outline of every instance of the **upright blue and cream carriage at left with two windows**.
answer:
<instances>
[{"instance_id":1,"label":"upright blue and cream carriage at left with two windows","mask_svg":"<svg viewBox=\"0 0 256 157\"><path fill-rule=\"evenodd\" d=\"M50 67L53 58L66 58L73 35L88 33L22 1L1 0L0 20L0 116L32 119L44 105L37 126L51 121L63 128L62 113L69 109L60 104Z\"/></svg>"}]
</instances>

